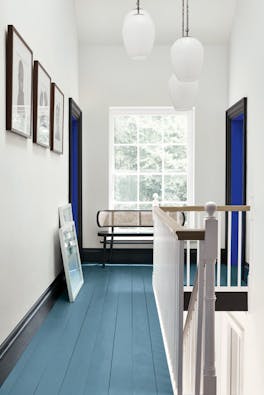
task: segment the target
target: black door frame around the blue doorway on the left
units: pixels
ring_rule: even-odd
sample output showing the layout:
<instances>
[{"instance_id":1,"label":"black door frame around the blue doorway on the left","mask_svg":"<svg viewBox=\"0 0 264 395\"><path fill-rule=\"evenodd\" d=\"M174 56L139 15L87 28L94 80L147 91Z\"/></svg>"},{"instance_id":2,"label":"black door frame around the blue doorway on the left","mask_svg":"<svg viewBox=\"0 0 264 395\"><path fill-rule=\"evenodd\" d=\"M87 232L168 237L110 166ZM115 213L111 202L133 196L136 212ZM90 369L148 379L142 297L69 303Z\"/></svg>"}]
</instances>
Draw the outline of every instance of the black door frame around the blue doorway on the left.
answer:
<instances>
[{"instance_id":1,"label":"black door frame around the blue doorway on the left","mask_svg":"<svg viewBox=\"0 0 264 395\"><path fill-rule=\"evenodd\" d=\"M77 119L79 123L78 128L78 223L79 234L78 244L80 252L83 248L82 242L82 111L75 101L69 99L69 202L71 203L71 135L72 135L72 116Z\"/></svg>"}]
</instances>

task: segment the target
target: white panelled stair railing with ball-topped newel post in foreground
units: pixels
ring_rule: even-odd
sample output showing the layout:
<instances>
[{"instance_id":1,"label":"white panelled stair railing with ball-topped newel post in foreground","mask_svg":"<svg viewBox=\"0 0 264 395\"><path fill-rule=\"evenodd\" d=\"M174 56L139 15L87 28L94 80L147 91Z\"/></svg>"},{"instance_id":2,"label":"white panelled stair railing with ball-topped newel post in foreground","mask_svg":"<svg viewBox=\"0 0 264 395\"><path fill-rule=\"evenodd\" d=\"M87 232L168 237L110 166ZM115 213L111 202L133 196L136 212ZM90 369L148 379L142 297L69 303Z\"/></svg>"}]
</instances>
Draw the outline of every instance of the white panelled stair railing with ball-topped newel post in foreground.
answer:
<instances>
[{"instance_id":1,"label":"white panelled stair railing with ball-topped newel post in foreground","mask_svg":"<svg viewBox=\"0 0 264 395\"><path fill-rule=\"evenodd\" d=\"M153 289L175 395L216 395L215 274L216 205L208 203L204 229L181 227L153 207ZM199 264L183 330L184 241L199 241ZM184 377L184 381L183 381Z\"/></svg>"}]
</instances>

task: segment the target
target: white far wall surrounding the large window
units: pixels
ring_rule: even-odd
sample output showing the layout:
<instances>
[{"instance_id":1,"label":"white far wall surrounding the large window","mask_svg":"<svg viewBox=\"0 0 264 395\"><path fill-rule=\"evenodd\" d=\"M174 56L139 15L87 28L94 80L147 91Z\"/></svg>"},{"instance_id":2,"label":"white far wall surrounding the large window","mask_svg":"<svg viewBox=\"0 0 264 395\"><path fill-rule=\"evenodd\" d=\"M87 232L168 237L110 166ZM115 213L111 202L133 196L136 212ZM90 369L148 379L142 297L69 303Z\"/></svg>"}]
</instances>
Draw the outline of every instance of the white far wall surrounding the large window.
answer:
<instances>
[{"instance_id":1,"label":"white far wall surrounding the large window","mask_svg":"<svg viewBox=\"0 0 264 395\"><path fill-rule=\"evenodd\" d=\"M121 46L80 46L84 247L98 246L96 212L108 207L109 106L170 106L169 50L168 46L156 46L148 60L135 62ZM205 48L196 109L196 203L224 203L227 52L226 46Z\"/></svg>"}]
</instances>

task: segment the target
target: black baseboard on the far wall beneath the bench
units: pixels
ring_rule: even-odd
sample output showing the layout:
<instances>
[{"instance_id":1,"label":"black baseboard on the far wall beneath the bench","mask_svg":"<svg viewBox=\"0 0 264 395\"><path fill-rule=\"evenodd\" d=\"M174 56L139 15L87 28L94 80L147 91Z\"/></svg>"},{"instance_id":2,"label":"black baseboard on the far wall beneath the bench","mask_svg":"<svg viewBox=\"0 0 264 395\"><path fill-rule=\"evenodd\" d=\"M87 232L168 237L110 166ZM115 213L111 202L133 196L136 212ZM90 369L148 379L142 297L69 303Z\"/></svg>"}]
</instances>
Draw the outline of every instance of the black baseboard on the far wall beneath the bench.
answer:
<instances>
[{"instance_id":1,"label":"black baseboard on the far wall beneath the bench","mask_svg":"<svg viewBox=\"0 0 264 395\"><path fill-rule=\"evenodd\" d=\"M105 255L102 248L83 248L81 260L83 263L109 263L109 250ZM113 248L111 263L152 265L153 250L152 248Z\"/></svg>"}]
</instances>

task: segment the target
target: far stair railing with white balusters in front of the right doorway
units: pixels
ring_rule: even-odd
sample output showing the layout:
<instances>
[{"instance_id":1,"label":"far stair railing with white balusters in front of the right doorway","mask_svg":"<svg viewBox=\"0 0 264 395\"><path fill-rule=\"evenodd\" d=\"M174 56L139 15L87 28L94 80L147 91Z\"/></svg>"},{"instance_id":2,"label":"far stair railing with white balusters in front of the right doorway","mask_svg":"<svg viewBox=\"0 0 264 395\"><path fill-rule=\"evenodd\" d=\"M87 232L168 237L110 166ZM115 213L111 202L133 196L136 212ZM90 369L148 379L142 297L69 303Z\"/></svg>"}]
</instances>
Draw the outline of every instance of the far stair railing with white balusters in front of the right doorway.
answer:
<instances>
[{"instance_id":1,"label":"far stair railing with white balusters in front of the right doorway","mask_svg":"<svg viewBox=\"0 0 264 395\"><path fill-rule=\"evenodd\" d=\"M165 212L177 220L184 213L186 224L201 227L206 216L204 206L161 206ZM245 265L246 225L251 208L247 205L217 206L218 247L216 262L216 290L221 292L243 292L247 286L248 265ZM186 241L185 291L191 291L193 285L192 268L198 263L199 242ZM250 262L249 262L250 263Z\"/></svg>"}]
</instances>

